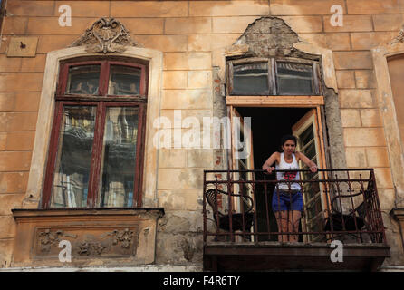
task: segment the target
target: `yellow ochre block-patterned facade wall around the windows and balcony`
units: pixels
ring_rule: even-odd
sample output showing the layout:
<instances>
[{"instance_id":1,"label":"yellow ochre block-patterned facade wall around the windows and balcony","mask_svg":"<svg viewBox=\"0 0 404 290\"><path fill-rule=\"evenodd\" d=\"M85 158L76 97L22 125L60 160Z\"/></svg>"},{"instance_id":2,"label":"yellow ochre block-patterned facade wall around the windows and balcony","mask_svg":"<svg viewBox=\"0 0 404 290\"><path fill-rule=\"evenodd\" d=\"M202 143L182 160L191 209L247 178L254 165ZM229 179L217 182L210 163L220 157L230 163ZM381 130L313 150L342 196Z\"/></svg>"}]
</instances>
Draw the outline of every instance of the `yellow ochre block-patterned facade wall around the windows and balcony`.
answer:
<instances>
[{"instance_id":1,"label":"yellow ochre block-patterned facade wall around the windows and balcony","mask_svg":"<svg viewBox=\"0 0 404 290\"><path fill-rule=\"evenodd\" d=\"M60 5L71 6L71 27L58 24ZM332 5L343 7L342 27L330 23ZM399 34L404 0L7 0L0 46L0 267L12 260L15 223L10 210L21 208L27 186L46 53L66 48L100 17L115 17L133 40L163 53L161 115L181 109L183 118L201 118L212 114L212 66L223 57L216 52L267 15L284 19L302 40L332 50L347 166L375 169L392 247L389 263L404 265L399 228L389 216L396 193L385 134L397 132L383 129L370 52ZM7 57L12 36L38 37L35 57ZM159 206L168 215L182 212L179 221L189 216L190 230L202 227L202 170L213 168L212 156L212 150L159 151ZM181 175L186 178L176 178Z\"/></svg>"}]
</instances>

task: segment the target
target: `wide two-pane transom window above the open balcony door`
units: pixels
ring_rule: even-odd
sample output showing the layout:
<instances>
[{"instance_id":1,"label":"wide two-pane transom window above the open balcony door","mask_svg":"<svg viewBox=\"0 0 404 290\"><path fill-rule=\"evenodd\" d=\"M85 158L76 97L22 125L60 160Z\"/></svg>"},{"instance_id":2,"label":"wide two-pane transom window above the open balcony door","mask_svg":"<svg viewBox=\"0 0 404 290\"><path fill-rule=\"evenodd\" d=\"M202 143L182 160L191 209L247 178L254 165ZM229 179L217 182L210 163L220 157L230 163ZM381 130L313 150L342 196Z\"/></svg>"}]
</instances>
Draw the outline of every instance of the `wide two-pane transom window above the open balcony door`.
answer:
<instances>
[{"instance_id":1,"label":"wide two-pane transom window above the open balcony door","mask_svg":"<svg viewBox=\"0 0 404 290\"><path fill-rule=\"evenodd\" d=\"M296 59L243 59L228 63L230 95L319 95L318 63Z\"/></svg>"}]
</instances>

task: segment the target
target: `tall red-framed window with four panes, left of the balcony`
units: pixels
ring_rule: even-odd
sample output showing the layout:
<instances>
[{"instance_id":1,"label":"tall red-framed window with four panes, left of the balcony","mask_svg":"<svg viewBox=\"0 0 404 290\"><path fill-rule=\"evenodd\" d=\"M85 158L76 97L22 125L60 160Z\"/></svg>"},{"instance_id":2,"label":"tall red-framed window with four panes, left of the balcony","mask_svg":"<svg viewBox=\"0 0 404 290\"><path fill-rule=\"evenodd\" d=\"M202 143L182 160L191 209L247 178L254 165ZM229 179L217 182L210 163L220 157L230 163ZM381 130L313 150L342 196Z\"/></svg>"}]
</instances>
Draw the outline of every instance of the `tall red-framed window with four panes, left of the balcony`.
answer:
<instances>
[{"instance_id":1,"label":"tall red-framed window with four panes, left of the balcony","mask_svg":"<svg viewBox=\"0 0 404 290\"><path fill-rule=\"evenodd\" d=\"M43 208L141 206L147 63L61 63Z\"/></svg>"}]
</instances>

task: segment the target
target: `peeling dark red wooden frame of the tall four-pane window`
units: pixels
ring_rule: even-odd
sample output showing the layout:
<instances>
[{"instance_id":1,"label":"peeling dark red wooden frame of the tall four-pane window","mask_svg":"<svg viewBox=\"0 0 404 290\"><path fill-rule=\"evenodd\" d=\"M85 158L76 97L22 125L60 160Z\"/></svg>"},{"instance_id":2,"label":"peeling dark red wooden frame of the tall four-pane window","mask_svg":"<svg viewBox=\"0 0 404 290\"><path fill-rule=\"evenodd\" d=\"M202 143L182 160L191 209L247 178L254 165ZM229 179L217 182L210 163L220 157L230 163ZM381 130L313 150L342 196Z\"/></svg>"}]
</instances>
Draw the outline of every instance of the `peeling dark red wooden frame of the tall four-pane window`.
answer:
<instances>
[{"instance_id":1,"label":"peeling dark red wooden frame of the tall four-pane window","mask_svg":"<svg viewBox=\"0 0 404 290\"><path fill-rule=\"evenodd\" d=\"M72 66L82 66L88 64L100 64L100 83L97 95L86 94L66 94L65 89L68 80L69 68ZM136 67L141 69L139 95L108 95L108 81L111 72L111 65L122 65L128 67ZM45 169L45 179L43 183L43 198L41 208L51 208L51 199L53 191L53 177L57 158L58 142L62 125L63 106L95 106L96 117L94 126L94 139L91 149L91 168L89 175L87 207L96 208L99 203L98 191L101 173L101 150L104 137L105 116L108 107L138 107L138 137L136 144L136 165L133 169L133 204L130 208L141 208L142 206L142 178L143 178L143 160L144 160L144 143L145 143L145 127L146 127L146 111L147 111L147 88L148 88L149 66L145 63L122 62L114 60L93 60L93 61L73 61L61 63L59 73L59 82L55 94L55 107L53 128L51 132L51 140L48 151L48 160Z\"/></svg>"}]
</instances>

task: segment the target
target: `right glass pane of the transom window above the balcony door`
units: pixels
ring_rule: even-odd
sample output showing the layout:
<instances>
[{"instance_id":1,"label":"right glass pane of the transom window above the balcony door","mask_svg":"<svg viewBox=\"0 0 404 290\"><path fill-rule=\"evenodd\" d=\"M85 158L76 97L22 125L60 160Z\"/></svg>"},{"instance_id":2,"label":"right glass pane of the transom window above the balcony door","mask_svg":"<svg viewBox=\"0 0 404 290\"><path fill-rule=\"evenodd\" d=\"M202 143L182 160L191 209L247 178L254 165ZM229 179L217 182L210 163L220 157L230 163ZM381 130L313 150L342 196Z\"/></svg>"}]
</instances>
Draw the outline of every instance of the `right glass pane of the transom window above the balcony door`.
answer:
<instances>
[{"instance_id":1,"label":"right glass pane of the transom window above the balcony door","mask_svg":"<svg viewBox=\"0 0 404 290\"><path fill-rule=\"evenodd\" d=\"M313 94L313 66L301 63L276 63L278 94Z\"/></svg>"}]
</instances>

